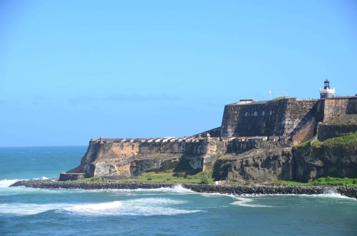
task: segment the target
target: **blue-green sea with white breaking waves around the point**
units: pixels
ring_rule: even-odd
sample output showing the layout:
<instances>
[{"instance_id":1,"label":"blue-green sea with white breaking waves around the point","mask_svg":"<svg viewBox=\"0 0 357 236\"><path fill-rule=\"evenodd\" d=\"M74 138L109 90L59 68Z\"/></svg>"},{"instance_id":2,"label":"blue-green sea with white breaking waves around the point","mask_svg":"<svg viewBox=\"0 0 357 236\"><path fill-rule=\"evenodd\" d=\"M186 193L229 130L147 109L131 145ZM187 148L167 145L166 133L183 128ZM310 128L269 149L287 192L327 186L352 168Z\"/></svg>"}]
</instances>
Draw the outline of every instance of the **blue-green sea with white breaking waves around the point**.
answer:
<instances>
[{"instance_id":1,"label":"blue-green sea with white breaking waves around the point","mask_svg":"<svg viewBox=\"0 0 357 236\"><path fill-rule=\"evenodd\" d=\"M18 179L58 178L80 164L86 148L0 148L0 235L357 235L357 200L333 192L8 187Z\"/></svg>"}]
</instances>

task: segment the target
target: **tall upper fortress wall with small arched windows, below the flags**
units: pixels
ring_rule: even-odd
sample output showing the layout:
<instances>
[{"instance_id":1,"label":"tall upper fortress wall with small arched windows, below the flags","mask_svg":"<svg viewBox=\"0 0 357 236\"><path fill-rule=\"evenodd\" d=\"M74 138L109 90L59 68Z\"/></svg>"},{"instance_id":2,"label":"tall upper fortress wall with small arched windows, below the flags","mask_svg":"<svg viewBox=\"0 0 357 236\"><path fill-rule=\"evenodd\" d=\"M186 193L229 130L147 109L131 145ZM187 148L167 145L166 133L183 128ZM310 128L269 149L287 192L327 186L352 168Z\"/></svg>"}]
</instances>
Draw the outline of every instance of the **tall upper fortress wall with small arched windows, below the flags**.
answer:
<instances>
[{"instance_id":1,"label":"tall upper fortress wall with small arched windows, below the flags","mask_svg":"<svg viewBox=\"0 0 357 236\"><path fill-rule=\"evenodd\" d=\"M278 101L228 104L222 118L221 137L292 136L299 143L316 133L323 102L286 98Z\"/></svg>"}]
</instances>

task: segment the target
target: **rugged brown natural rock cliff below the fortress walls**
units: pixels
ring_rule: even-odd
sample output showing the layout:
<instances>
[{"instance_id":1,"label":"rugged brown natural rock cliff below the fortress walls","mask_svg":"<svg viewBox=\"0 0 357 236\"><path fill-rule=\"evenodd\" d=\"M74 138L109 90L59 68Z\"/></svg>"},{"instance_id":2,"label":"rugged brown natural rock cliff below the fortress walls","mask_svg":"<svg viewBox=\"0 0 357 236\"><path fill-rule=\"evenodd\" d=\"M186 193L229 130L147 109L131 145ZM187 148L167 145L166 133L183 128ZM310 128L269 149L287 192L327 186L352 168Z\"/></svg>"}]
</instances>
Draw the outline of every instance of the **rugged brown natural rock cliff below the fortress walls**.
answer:
<instances>
[{"instance_id":1,"label":"rugged brown natural rock cliff below the fortress walls","mask_svg":"<svg viewBox=\"0 0 357 236\"><path fill-rule=\"evenodd\" d=\"M343 148L260 149L242 153L231 160L227 180L295 180L308 182L323 176L356 177L357 153Z\"/></svg>"}]
</instances>

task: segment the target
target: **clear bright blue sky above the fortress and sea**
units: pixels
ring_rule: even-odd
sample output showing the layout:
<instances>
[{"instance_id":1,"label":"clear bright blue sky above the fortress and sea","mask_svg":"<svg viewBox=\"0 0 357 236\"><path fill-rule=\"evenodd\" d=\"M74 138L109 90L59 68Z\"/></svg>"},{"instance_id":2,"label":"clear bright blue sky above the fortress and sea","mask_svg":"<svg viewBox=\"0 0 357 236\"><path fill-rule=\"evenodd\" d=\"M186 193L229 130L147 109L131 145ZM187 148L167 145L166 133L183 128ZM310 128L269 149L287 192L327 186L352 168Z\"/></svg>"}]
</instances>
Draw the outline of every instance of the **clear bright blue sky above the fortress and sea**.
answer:
<instances>
[{"instance_id":1,"label":"clear bright blue sky above the fortress and sea","mask_svg":"<svg viewBox=\"0 0 357 236\"><path fill-rule=\"evenodd\" d=\"M0 1L0 147L183 137L225 104L357 93L357 1Z\"/></svg>"}]
</instances>

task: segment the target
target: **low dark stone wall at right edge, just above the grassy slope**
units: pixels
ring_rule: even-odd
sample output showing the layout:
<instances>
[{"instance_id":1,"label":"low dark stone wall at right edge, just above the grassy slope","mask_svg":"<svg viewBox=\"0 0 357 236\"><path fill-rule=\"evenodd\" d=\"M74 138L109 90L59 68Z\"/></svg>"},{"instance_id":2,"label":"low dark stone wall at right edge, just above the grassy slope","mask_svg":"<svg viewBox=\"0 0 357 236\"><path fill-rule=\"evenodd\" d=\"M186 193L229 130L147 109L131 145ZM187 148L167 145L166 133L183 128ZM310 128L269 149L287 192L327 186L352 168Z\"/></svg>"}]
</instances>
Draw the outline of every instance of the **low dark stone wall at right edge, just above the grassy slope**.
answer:
<instances>
[{"instance_id":1,"label":"low dark stone wall at right edge, just above the grassy slope","mask_svg":"<svg viewBox=\"0 0 357 236\"><path fill-rule=\"evenodd\" d=\"M350 132L357 132L357 124L319 124L317 139L324 141L329 138L341 137Z\"/></svg>"}]
</instances>

